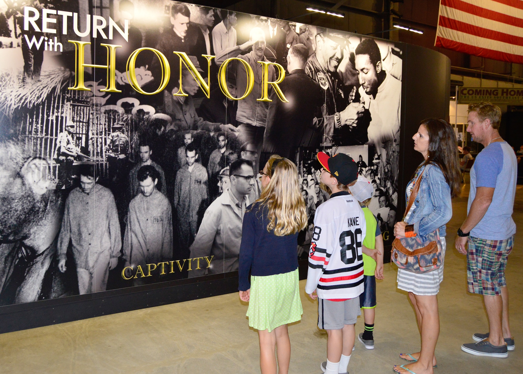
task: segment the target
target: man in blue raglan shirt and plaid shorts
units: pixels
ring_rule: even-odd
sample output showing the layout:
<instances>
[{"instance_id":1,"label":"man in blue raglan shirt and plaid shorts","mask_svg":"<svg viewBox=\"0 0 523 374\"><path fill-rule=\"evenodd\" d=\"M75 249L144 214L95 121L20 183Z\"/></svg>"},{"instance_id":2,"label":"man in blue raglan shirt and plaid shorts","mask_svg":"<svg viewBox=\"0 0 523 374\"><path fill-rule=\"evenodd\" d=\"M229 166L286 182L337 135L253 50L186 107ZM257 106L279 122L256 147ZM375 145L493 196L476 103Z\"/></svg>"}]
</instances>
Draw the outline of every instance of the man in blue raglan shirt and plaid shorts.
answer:
<instances>
[{"instance_id":1,"label":"man in blue raglan shirt and plaid shorts","mask_svg":"<svg viewBox=\"0 0 523 374\"><path fill-rule=\"evenodd\" d=\"M470 171L468 215L458 229L456 249L467 254L468 290L483 295L488 316L488 333L475 333L472 338L477 343L461 346L476 356L507 357L507 350L514 350L505 268L516 234L512 212L517 161L514 150L499 136L500 120L498 106L469 104L467 131L485 148Z\"/></svg>"}]
</instances>

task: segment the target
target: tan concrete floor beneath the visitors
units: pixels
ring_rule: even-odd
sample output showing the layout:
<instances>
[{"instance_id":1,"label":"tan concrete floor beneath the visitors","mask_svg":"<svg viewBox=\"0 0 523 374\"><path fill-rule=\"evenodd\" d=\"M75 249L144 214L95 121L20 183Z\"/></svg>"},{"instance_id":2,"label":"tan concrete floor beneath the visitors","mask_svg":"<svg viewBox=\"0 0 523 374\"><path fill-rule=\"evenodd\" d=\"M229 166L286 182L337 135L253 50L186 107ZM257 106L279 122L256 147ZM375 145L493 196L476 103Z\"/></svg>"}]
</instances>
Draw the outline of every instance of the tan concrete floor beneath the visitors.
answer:
<instances>
[{"instance_id":1,"label":"tan concrete floor beneath the visitors","mask_svg":"<svg viewBox=\"0 0 523 374\"><path fill-rule=\"evenodd\" d=\"M466 291L466 260L453 249L457 228L467 210L467 187L455 199L449 222L445 280L439 293L441 333L435 373L523 372L523 276L518 274L523 234L509 257L507 284L511 297L510 322L516 350L508 358L476 357L461 351L475 332L487 332L482 299ZM523 188L514 207L518 227L523 223ZM289 326L291 373L320 374L326 359L326 333L316 327L317 304L302 289L303 317ZM374 339L376 349L356 342L349 364L351 374L392 373L404 364L399 353L419 350L414 311L406 293L396 289L396 267L385 265L378 281ZM247 304L236 293L89 320L0 335L0 372L5 373L259 373L257 333L249 329ZM357 333L363 331L359 318ZM518 369L519 368L519 369Z\"/></svg>"}]
</instances>

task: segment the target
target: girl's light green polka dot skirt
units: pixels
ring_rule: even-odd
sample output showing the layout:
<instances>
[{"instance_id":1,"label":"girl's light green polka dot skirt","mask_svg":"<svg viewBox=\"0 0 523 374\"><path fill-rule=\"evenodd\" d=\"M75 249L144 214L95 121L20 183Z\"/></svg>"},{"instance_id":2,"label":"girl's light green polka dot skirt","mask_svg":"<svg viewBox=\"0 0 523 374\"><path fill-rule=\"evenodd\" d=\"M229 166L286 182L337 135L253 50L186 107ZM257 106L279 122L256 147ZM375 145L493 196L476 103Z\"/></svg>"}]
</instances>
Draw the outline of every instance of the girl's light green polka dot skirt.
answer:
<instances>
[{"instance_id":1,"label":"girl's light green polka dot skirt","mask_svg":"<svg viewBox=\"0 0 523 374\"><path fill-rule=\"evenodd\" d=\"M273 276L251 276L249 326L269 333L276 327L301 320L298 269Z\"/></svg>"}]
</instances>

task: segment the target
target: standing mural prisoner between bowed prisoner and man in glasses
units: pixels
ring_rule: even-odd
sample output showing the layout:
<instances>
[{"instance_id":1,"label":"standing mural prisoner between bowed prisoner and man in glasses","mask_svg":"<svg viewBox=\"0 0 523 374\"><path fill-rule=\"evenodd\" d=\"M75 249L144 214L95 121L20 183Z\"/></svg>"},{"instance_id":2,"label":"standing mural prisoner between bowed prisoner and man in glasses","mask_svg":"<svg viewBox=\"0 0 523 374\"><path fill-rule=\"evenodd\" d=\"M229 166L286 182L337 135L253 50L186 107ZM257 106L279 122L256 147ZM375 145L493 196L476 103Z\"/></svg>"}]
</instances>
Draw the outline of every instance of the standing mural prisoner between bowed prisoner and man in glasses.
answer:
<instances>
[{"instance_id":1,"label":"standing mural prisoner between bowed prisoner and man in glasses","mask_svg":"<svg viewBox=\"0 0 523 374\"><path fill-rule=\"evenodd\" d=\"M207 170L196 162L200 155L193 143L185 148L185 155L186 163L176 173L174 183L173 207L178 218L179 255L192 244L198 230L199 214L204 212L209 197Z\"/></svg>"}]
</instances>

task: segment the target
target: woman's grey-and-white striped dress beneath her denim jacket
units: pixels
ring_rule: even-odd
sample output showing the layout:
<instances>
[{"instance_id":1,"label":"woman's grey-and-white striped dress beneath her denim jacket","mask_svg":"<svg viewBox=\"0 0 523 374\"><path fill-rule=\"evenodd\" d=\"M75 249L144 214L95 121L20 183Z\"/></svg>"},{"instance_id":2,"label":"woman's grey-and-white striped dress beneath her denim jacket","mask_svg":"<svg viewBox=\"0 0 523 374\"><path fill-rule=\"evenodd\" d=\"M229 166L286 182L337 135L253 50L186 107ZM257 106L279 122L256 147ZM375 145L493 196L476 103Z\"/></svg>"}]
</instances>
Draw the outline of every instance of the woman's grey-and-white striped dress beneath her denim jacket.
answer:
<instances>
[{"instance_id":1,"label":"woman's grey-and-white striped dress beneath her denim jacket","mask_svg":"<svg viewBox=\"0 0 523 374\"><path fill-rule=\"evenodd\" d=\"M407 201L411 196L414 180L407 185ZM408 220L411 213L414 211L416 204L412 204L411 209L407 212L404 221ZM443 281L443 265L445 259L445 249L447 243L445 237L441 237L442 247L442 261L441 266L428 273L417 274L404 269L397 269L397 288L403 291L412 292L416 295L430 296L437 295L439 292L439 284Z\"/></svg>"}]
</instances>

